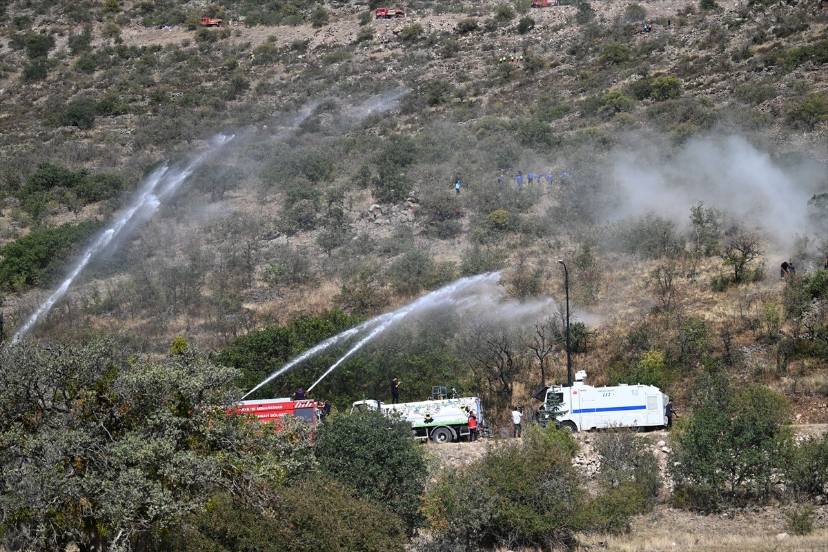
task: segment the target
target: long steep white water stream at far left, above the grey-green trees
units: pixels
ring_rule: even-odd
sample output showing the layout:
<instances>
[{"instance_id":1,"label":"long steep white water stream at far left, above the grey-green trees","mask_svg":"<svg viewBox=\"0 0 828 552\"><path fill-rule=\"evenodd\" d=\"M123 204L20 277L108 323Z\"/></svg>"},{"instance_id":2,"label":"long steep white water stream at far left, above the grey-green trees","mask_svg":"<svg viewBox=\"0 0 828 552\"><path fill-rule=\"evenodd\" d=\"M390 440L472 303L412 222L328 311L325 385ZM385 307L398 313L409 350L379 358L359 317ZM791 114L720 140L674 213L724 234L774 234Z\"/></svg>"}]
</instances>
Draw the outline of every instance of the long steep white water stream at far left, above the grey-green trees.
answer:
<instances>
[{"instance_id":1,"label":"long steep white water stream at far left, above the grey-green trees","mask_svg":"<svg viewBox=\"0 0 828 552\"><path fill-rule=\"evenodd\" d=\"M190 161L190 164L185 166L183 169L171 170L165 165L161 166L161 168L155 170L151 175L147 176L147 180L144 180L144 184L141 186L141 189L139 190L135 200L132 201L129 209L124 211L121 217L118 218L118 221L116 221L111 228L104 230L98 239L96 239L94 243L86 249L83 257L80 258L77 266L75 266L75 270L73 270L63 281L63 283L60 284L60 287L58 287L57 290L49 295L49 298L46 299L46 301L44 301L35 313L31 315L31 317L26 321L26 324L23 324L20 329L17 330L17 333L12 335L12 343L20 341L26 332L36 324L37 320L41 316L49 314L51 308L58 300L60 300L61 297L63 297L66 290L69 290L69 286L72 285L72 282L75 281L75 278L81 271L84 270L84 267L89 264L89 261L92 260L92 257L94 257L96 253L101 252L104 247L113 241L113 239L126 238L135 228L135 224L152 217L159 205L161 205L162 199L165 199L173 191L175 191L176 188L181 185L181 182L186 180L186 178L192 174L196 167L198 167L205 161L205 159L213 155L221 146L224 146L224 144L232 139L233 136L219 135L214 137L212 147L209 151L205 151L200 156L196 157L195 160ZM132 223L132 225L128 226L129 223Z\"/></svg>"}]
</instances>

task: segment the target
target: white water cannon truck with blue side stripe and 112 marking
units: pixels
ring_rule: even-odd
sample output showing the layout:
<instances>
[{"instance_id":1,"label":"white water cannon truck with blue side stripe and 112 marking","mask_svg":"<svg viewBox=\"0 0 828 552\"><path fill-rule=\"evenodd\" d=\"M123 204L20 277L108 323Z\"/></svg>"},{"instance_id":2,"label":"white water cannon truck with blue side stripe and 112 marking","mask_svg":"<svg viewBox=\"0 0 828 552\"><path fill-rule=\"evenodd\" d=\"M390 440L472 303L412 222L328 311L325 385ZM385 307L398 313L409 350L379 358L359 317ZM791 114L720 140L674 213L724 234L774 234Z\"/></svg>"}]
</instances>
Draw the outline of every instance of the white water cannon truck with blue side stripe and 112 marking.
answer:
<instances>
[{"instance_id":1,"label":"white water cannon truck with blue side stripe and 112 marking","mask_svg":"<svg viewBox=\"0 0 828 552\"><path fill-rule=\"evenodd\" d=\"M586 372L580 370L572 386L544 386L532 395L543 403L539 422L556 419L556 425L572 432L619 427L642 432L667 426L665 407L670 397L658 387L626 383L593 387L585 379Z\"/></svg>"}]
</instances>

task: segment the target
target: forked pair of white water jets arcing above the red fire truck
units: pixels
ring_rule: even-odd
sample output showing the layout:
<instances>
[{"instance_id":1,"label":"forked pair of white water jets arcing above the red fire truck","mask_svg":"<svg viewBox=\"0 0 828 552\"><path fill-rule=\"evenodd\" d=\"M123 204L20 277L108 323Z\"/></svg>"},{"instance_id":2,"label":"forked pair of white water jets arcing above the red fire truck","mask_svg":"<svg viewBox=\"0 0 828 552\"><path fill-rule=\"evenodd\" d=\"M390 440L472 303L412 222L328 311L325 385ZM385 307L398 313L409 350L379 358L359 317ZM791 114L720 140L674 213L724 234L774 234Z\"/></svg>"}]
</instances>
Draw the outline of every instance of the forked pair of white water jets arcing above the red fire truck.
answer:
<instances>
[{"instance_id":1,"label":"forked pair of white water jets arcing above the red fire truck","mask_svg":"<svg viewBox=\"0 0 828 552\"><path fill-rule=\"evenodd\" d=\"M280 376L281 374L287 372L291 369L291 367L296 366L299 362L306 360L307 358L312 357L316 353L320 353L324 351L326 348L329 348L344 339L350 338L359 332L370 329L368 335L364 338L360 339L358 343L354 345L347 353L345 353L339 360L334 362L330 368L328 368L322 376L314 382L314 384L308 387L307 391L313 389L316 384L322 381L325 376L333 372L336 367L339 366L345 359L349 358L352 354L359 351L360 348L363 348L365 343L368 343L373 338L376 338L379 334L382 334L386 329L391 327L393 324L396 324L400 320L404 319L407 315L417 312L425 312L427 310L436 309L438 307L446 306L446 305L460 305L460 304L468 304L473 303L471 299L474 298L474 295L479 293L479 288L481 286L492 286L497 284L500 280L500 272L487 272L485 274L479 274L478 276L469 276L467 278L460 278L458 281L454 281L450 283L448 286L441 287L439 290L432 291L428 295L423 295L420 299L414 301L413 303L409 303L397 309L391 313L380 314L379 316L374 317L373 319L368 320L367 322L363 322L363 324L359 324L359 326L351 329L346 329L344 332L335 335L332 338L325 339L325 341L315 345L315 347L308 349L305 353L302 353L298 357L292 359L290 362L287 362L284 366L279 368L276 372L273 372L270 376L265 378L264 381L259 383L257 386L253 387L250 391L248 391L242 398L250 395L253 391L257 391L260 387L267 384L267 382L271 382L273 378Z\"/></svg>"}]
</instances>

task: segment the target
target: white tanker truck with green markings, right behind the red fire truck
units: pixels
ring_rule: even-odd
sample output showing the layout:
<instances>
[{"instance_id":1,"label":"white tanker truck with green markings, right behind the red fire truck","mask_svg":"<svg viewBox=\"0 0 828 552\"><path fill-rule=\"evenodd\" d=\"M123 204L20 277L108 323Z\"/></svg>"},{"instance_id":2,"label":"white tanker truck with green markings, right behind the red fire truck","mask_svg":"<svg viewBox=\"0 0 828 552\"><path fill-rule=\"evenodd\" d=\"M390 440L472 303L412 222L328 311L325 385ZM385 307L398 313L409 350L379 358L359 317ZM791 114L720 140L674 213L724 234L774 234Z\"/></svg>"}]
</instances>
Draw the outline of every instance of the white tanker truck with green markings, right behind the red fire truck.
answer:
<instances>
[{"instance_id":1,"label":"white tanker truck with green markings, right behind the red fire truck","mask_svg":"<svg viewBox=\"0 0 828 552\"><path fill-rule=\"evenodd\" d=\"M381 401L356 401L351 411L367 408L380 410L392 418L399 415L412 425L412 437L437 444L469 438L469 414L474 412L479 430L484 428L483 406L479 397L440 398L431 401L402 402L387 405ZM481 431L482 433L482 431Z\"/></svg>"}]
</instances>

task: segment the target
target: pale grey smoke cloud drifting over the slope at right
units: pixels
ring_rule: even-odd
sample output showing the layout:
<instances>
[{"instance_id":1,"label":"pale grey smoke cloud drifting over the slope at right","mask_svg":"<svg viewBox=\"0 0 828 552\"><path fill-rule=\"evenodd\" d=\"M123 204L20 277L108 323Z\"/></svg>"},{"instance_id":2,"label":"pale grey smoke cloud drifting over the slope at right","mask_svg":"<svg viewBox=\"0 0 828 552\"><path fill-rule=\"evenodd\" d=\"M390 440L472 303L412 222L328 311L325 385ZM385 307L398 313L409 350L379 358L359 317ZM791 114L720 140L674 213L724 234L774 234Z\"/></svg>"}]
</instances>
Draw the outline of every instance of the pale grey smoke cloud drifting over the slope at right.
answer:
<instances>
[{"instance_id":1,"label":"pale grey smoke cloud drifting over the slope at right","mask_svg":"<svg viewBox=\"0 0 828 552\"><path fill-rule=\"evenodd\" d=\"M782 249L797 233L826 232L813 228L807 205L814 194L828 191L824 166L783 166L739 136L694 139L667 159L656 147L615 153L614 176L626 191L616 217L656 213L683 228L691 206L701 201L749 230L763 230Z\"/></svg>"}]
</instances>

